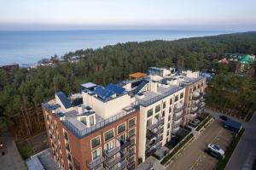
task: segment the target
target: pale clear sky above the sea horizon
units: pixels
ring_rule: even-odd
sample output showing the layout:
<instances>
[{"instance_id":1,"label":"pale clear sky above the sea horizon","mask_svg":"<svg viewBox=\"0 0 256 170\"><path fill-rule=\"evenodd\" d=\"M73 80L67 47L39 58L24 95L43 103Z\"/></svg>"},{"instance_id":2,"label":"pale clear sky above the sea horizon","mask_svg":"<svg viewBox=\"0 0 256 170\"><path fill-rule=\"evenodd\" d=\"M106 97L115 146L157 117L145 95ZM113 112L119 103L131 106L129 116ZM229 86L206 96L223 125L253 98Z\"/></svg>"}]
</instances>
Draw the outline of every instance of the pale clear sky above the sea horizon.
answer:
<instances>
[{"instance_id":1,"label":"pale clear sky above the sea horizon","mask_svg":"<svg viewBox=\"0 0 256 170\"><path fill-rule=\"evenodd\" d=\"M256 30L256 0L0 0L0 30Z\"/></svg>"}]
</instances>

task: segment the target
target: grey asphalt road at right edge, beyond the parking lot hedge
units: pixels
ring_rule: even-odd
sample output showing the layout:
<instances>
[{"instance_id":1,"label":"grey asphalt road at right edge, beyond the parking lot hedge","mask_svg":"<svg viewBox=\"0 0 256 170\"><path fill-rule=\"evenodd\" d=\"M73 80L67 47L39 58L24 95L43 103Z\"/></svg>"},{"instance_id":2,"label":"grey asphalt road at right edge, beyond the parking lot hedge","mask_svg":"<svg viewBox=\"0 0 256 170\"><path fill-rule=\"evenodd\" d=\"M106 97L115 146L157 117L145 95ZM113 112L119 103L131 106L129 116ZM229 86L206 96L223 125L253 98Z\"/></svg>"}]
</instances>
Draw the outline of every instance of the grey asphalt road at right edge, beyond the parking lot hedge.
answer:
<instances>
[{"instance_id":1,"label":"grey asphalt road at right edge, beyond the parking lot hedge","mask_svg":"<svg viewBox=\"0 0 256 170\"><path fill-rule=\"evenodd\" d=\"M205 111L216 117L223 115L216 111L207 109L205 109ZM241 120L238 120L235 117L229 117L241 122ZM241 139L236 146L236 150L234 150L225 170L251 170L253 161L256 159L256 114L253 115L249 122L241 123L246 130L241 136Z\"/></svg>"}]
</instances>

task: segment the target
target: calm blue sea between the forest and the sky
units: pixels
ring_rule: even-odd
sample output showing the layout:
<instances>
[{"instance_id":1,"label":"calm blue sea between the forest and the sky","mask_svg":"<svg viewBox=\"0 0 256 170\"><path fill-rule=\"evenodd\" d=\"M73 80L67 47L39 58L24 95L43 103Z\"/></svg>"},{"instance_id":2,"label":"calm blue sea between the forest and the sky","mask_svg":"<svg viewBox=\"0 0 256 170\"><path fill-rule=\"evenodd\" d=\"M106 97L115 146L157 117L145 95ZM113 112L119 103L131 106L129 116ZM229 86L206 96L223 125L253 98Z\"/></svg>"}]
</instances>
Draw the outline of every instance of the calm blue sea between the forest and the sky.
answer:
<instances>
[{"instance_id":1,"label":"calm blue sea between the forest and the sky","mask_svg":"<svg viewBox=\"0 0 256 170\"><path fill-rule=\"evenodd\" d=\"M177 40L232 31L0 31L0 65L34 64L57 54L119 42Z\"/></svg>"}]
</instances>

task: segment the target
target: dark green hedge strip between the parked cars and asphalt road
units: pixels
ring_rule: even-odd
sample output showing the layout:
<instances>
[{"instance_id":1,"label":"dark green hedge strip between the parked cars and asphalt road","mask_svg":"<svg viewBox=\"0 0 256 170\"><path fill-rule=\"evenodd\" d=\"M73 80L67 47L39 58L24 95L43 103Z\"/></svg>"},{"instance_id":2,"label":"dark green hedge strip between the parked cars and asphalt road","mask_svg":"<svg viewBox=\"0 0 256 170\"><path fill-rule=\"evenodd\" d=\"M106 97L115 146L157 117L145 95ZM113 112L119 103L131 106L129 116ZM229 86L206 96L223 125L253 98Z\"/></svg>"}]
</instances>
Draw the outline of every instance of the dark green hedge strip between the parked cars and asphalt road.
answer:
<instances>
[{"instance_id":1,"label":"dark green hedge strip between the parked cars and asphalt road","mask_svg":"<svg viewBox=\"0 0 256 170\"><path fill-rule=\"evenodd\" d=\"M236 149L236 145L238 144L239 140L241 139L241 135L244 132L244 128L241 128L241 131L237 134L237 136L231 141L230 145L228 146L227 150L225 151L225 157L223 160L218 161L216 170L224 170L226 164L230 160L233 151Z\"/></svg>"}]
</instances>

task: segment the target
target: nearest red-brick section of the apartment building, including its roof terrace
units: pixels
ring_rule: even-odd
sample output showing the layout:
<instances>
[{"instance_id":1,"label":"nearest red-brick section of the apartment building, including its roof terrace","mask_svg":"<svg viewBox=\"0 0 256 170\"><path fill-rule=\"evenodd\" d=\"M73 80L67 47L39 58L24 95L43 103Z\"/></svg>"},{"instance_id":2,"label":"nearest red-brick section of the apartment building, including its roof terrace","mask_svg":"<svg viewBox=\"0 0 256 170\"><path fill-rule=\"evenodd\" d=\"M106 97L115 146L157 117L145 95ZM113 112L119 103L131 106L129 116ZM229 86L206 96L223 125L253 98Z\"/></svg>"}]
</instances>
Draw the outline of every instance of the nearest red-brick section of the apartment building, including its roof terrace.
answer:
<instances>
[{"instance_id":1,"label":"nearest red-brick section of the apartment building, including its roof terrace","mask_svg":"<svg viewBox=\"0 0 256 170\"><path fill-rule=\"evenodd\" d=\"M55 162L77 170L137 167L139 112L131 97L114 85L82 88L71 99L58 92L42 105Z\"/></svg>"}]
</instances>

